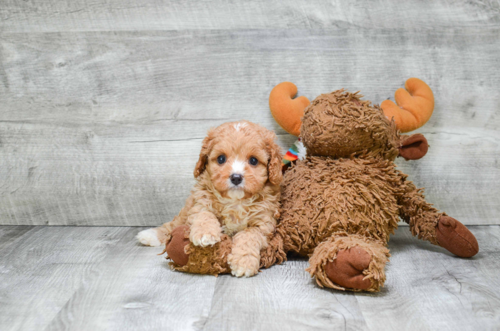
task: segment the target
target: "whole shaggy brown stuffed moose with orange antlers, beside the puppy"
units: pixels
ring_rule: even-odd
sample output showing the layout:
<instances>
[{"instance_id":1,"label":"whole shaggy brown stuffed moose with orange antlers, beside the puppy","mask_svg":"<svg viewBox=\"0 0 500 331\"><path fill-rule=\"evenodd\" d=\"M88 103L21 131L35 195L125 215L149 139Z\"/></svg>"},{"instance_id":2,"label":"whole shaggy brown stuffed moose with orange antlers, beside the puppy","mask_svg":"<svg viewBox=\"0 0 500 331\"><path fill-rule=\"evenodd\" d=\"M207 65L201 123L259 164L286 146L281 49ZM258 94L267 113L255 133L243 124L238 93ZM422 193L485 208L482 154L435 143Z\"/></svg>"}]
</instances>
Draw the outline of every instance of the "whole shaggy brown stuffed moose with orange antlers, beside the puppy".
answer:
<instances>
[{"instance_id":1,"label":"whole shaggy brown stuffed moose with orange antlers, beside the puppy","mask_svg":"<svg viewBox=\"0 0 500 331\"><path fill-rule=\"evenodd\" d=\"M389 258L387 242L401 217L419 239L459 257L479 251L476 238L458 220L439 212L421 189L395 169L397 156L423 157L427 140L413 131L426 123L434 96L426 83L409 79L395 93L396 104L381 107L361 95L337 90L312 103L294 98L289 82L274 87L269 106L288 133L299 136L307 156L284 173L282 211L276 232L261 251L261 267L280 264L292 252L309 257L307 271L319 286L338 290L380 291ZM177 270L219 274L227 263L231 238L213 247L189 242L188 227L172 232L165 251Z\"/></svg>"}]
</instances>

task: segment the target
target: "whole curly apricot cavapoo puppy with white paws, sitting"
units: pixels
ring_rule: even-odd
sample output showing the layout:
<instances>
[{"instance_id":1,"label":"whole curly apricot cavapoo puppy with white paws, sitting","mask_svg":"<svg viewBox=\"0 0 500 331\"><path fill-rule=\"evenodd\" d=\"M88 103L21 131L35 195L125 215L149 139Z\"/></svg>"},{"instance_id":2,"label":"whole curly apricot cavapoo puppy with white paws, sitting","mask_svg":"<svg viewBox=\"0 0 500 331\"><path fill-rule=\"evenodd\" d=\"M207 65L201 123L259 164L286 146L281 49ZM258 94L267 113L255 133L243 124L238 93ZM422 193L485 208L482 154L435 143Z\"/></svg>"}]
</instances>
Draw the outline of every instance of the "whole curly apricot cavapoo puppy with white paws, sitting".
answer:
<instances>
[{"instance_id":1,"label":"whole curly apricot cavapoo puppy with white paws, sitting","mask_svg":"<svg viewBox=\"0 0 500 331\"><path fill-rule=\"evenodd\" d=\"M235 276L259 270L260 251L274 232L280 211L282 155L273 132L248 121L211 129L194 169L196 184L186 205L171 222L141 231L148 246L170 240L179 225L190 228L189 240L206 247L232 236L228 263Z\"/></svg>"}]
</instances>

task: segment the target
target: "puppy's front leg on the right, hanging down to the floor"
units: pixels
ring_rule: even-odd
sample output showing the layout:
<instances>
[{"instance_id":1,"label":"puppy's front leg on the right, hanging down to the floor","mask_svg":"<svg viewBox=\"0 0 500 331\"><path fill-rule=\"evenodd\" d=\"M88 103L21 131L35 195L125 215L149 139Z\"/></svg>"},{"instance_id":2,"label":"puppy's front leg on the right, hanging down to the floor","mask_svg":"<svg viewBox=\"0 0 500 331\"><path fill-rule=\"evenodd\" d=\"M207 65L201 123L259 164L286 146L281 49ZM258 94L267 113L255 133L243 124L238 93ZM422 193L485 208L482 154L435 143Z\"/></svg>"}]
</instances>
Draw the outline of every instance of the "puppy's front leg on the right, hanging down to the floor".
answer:
<instances>
[{"instance_id":1,"label":"puppy's front leg on the right, hanging down to the floor","mask_svg":"<svg viewBox=\"0 0 500 331\"><path fill-rule=\"evenodd\" d=\"M258 227L247 227L237 233L228 256L231 273L237 277L251 277L259 272L260 250L266 246L267 237Z\"/></svg>"}]
</instances>

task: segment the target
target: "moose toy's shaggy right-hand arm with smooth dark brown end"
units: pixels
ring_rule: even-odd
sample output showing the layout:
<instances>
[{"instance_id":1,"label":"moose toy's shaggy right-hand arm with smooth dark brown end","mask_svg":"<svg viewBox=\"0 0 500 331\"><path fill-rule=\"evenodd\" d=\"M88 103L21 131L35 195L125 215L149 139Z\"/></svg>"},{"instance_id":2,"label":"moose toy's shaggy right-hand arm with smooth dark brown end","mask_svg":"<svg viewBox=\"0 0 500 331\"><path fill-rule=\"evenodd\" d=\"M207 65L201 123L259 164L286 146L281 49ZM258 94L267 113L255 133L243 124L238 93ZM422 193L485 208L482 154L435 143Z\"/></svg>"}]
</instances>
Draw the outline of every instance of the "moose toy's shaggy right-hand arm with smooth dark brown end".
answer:
<instances>
[{"instance_id":1,"label":"moose toy's shaggy right-hand arm with smooth dark brown end","mask_svg":"<svg viewBox=\"0 0 500 331\"><path fill-rule=\"evenodd\" d=\"M401 218L410 224L411 232L419 239L428 240L462 258L470 258L479 251L476 237L465 225L426 202L413 183L404 182L401 197Z\"/></svg>"}]
</instances>

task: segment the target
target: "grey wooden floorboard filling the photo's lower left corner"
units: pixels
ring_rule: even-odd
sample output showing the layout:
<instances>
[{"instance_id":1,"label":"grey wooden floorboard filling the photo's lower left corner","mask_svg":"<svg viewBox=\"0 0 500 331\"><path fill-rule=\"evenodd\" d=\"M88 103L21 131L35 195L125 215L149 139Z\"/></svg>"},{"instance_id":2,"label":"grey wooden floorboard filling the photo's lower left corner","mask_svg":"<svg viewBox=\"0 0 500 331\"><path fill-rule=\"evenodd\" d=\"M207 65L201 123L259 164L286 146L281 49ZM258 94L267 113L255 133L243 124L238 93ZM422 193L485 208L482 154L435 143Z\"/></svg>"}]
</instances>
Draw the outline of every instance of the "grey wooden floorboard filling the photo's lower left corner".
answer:
<instances>
[{"instance_id":1,"label":"grey wooden floorboard filling the photo's lower left corner","mask_svg":"<svg viewBox=\"0 0 500 331\"><path fill-rule=\"evenodd\" d=\"M0 227L2 330L43 329L127 230Z\"/></svg>"}]
</instances>

